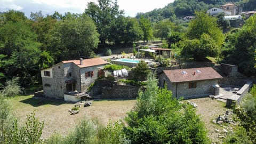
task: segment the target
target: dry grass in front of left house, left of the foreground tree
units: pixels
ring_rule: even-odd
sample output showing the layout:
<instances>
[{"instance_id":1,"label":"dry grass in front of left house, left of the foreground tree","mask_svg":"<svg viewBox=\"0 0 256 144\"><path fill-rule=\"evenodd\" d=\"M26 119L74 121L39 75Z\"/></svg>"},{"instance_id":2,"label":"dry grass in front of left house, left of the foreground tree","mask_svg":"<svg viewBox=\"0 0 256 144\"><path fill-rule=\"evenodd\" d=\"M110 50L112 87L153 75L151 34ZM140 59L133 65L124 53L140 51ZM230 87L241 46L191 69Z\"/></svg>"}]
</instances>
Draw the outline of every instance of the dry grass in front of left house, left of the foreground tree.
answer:
<instances>
[{"instance_id":1,"label":"dry grass in front of left house, left of the foreground tree","mask_svg":"<svg viewBox=\"0 0 256 144\"><path fill-rule=\"evenodd\" d=\"M102 124L123 119L136 103L136 100L102 100L93 101L91 107L81 107L78 114L68 112L74 103L51 99L35 99L32 95L9 99L15 114L24 122L27 114L35 111L36 117L44 121L42 138L48 138L54 132L66 135L74 129L84 116L98 118Z\"/></svg>"}]
</instances>

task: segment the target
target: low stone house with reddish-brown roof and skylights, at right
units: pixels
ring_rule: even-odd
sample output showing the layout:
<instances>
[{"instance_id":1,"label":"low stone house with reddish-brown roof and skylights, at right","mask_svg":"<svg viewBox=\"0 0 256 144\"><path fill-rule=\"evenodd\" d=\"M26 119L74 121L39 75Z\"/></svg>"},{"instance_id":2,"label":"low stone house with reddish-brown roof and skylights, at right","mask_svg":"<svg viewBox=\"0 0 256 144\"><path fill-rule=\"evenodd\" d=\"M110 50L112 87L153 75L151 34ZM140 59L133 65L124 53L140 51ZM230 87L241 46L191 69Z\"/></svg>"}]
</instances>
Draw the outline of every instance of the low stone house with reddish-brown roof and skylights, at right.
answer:
<instances>
[{"instance_id":1,"label":"low stone house with reddish-brown roof and skylights, at right","mask_svg":"<svg viewBox=\"0 0 256 144\"><path fill-rule=\"evenodd\" d=\"M222 76L211 67L163 70L159 86L166 85L175 98L199 98L219 95L219 78Z\"/></svg>"}]
</instances>

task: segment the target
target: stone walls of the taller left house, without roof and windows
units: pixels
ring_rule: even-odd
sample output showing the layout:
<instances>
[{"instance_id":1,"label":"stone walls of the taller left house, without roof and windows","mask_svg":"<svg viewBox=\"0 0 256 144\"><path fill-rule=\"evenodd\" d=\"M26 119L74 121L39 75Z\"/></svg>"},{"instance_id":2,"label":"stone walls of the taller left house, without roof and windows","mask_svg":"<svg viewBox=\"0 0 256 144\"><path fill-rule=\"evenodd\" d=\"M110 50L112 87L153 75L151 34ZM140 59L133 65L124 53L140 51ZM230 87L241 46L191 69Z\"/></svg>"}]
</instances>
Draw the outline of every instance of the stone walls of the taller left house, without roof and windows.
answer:
<instances>
[{"instance_id":1,"label":"stone walls of the taller left house, without roof and windows","mask_svg":"<svg viewBox=\"0 0 256 144\"><path fill-rule=\"evenodd\" d=\"M42 83L45 97L64 99L64 94L67 92L66 81L75 80L74 90L85 92L87 87L98 78L98 70L100 66L79 68L74 63L58 63L51 70L51 77L44 77L42 74ZM85 73L93 71L93 77L85 77ZM71 76L69 75L71 73Z\"/></svg>"}]
</instances>

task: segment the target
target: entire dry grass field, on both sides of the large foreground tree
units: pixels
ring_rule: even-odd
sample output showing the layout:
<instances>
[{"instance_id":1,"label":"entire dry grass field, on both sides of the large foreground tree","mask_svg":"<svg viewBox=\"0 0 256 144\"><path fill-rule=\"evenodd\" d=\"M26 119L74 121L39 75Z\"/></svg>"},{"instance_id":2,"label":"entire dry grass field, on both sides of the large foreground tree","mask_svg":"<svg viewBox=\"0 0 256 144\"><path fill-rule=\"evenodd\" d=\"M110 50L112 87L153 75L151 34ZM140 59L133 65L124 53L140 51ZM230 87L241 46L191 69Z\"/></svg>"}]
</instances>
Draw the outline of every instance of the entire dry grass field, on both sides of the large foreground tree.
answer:
<instances>
[{"instance_id":1,"label":"entire dry grass field, on both sides of the large foreground tree","mask_svg":"<svg viewBox=\"0 0 256 144\"><path fill-rule=\"evenodd\" d=\"M26 115L35 111L36 117L45 122L43 138L50 137L54 132L66 135L74 129L75 125L85 116L98 118L102 124L107 124L109 120L115 121L123 119L136 103L136 100L101 100L93 101L91 107L81 107L78 114L70 115L68 112L74 103L66 103L51 99L36 99L32 95L19 96L9 99L17 116L24 122ZM188 100L195 102L198 107L197 114L200 115L206 125L208 135L212 141L222 143L215 129L223 129L212 120L219 115L225 114L228 110L225 103L212 100L210 98Z\"/></svg>"}]
</instances>

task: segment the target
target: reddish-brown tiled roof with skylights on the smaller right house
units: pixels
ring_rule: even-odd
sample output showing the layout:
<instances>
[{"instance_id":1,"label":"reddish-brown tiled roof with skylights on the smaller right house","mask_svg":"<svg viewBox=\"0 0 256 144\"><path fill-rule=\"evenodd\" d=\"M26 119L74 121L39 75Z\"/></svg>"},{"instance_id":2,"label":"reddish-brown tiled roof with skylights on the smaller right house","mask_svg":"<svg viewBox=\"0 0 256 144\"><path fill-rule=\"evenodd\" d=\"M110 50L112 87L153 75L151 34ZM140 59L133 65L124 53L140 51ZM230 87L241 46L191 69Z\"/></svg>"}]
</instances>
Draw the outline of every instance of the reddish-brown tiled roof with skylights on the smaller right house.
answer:
<instances>
[{"instance_id":1,"label":"reddish-brown tiled roof with skylights on the smaller right house","mask_svg":"<svg viewBox=\"0 0 256 144\"><path fill-rule=\"evenodd\" d=\"M197 70L201 72L198 73ZM183 74L182 71L186 71L187 74ZM222 76L211 67L164 70L164 73L170 79L171 83L222 78Z\"/></svg>"}]
</instances>

